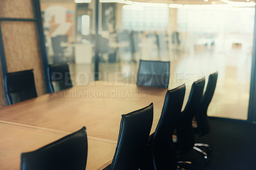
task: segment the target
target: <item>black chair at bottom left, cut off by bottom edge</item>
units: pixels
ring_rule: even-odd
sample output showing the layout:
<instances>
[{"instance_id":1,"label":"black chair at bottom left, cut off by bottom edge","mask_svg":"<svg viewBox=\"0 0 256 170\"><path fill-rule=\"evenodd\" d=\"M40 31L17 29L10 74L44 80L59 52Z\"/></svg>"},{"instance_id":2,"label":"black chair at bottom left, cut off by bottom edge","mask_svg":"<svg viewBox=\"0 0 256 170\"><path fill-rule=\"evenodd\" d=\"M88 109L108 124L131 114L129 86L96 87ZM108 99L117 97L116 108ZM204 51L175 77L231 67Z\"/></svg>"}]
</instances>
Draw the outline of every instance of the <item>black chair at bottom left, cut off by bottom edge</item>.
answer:
<instances>
[{"instance_id":1,"label":"black chair at bottom left, cut off by bottom edge","mask_svg":"<svg viewBox=\"0 0 256 170\"><path fill-rule=\"evenodd\" d=\"M81 169L86 167L87 135L83 127L54 143L21 154L21 170L57 170Z\"/></svg>"}]
</instances>

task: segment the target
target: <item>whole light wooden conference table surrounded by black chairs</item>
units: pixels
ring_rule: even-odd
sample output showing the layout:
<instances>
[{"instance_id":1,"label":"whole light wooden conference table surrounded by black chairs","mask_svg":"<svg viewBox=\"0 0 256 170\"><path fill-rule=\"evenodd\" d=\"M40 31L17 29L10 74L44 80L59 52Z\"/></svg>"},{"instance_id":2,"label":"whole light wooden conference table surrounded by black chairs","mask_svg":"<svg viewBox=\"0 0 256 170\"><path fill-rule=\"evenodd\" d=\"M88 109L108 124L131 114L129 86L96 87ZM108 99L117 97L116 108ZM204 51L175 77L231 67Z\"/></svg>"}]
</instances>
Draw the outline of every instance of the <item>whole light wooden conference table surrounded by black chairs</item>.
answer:
<instances>
[{"instance_id":1,"label":"whole light wooden conference table surrounded by black chairs","mask_svg":"<svg viewBox=\"0 0 256 170\"><path fill-rule=\"evenodd\" d=\"M154 103L154 132L166 89L92 82L0 109L0 169L19 169L20 153L86 127L86 169L100 169L115 153L121 115ZM2 165L5 165L4 167Z\"/></svg>"}]
</instances>

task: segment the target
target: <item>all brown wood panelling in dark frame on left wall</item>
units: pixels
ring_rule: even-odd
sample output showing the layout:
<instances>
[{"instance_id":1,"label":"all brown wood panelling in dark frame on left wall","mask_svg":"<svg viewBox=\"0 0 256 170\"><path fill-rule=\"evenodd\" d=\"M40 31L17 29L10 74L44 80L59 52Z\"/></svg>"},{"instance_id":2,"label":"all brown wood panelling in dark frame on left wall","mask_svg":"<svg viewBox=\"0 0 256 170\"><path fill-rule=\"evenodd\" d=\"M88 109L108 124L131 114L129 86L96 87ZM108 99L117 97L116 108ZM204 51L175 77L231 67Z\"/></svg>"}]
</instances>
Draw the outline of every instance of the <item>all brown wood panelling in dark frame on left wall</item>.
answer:
<instances>
[{"instance_id":1,"label":"all brown wood panelling in dark frame on left wall","mask_svg":"<svg viewBox=\"0 0 256 170\"><path fill-rule=\"evenodd\" d=\"M32 0L0 1L0 17L35 19L34 12ZM47 93L36 22L1 21L0 24L7 72L33 69L38 95ZM0 107L3 107L7 104L0 70Z\"/></svg>"}]
</instances>

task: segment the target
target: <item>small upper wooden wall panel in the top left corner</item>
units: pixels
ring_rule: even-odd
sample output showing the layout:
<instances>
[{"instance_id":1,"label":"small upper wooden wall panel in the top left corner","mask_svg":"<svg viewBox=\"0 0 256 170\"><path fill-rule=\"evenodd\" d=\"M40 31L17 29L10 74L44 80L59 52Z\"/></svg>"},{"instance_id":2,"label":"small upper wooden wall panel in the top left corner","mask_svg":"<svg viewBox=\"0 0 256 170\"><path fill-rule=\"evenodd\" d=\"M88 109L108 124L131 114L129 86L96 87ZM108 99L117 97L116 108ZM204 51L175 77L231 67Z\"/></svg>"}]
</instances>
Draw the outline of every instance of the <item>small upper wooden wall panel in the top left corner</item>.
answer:
<instances>
[{"instance_id":1,"label":"small upper wooden wall panel in the top left corner","mask_svg":"<svg viewBox=\"0 0 256 170\"><path fill-rule=\"evenodd\" d=\"M0 17L34 18L33 0L0 0Z\"/></svg>"}]
</instances>

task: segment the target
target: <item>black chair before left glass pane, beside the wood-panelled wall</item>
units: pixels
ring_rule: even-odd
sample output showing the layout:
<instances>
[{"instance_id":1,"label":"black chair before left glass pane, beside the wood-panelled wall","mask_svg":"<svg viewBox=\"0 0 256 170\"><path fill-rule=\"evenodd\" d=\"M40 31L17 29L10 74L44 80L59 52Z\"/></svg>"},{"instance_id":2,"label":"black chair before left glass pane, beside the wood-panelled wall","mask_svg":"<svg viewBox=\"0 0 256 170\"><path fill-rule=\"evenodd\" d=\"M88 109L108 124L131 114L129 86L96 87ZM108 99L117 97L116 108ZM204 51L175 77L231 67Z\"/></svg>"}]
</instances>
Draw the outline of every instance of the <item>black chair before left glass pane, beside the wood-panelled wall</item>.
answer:
<instances>
[{"instance_id":1,"label":"black chair before left glass pane, beside the wood-panelled wall","mask_svg":"<svg viewBox=\"0 0 256 170\"><path fill-rule=\"evenodd\" d=\"M67 63L49 65L48 73L52 92L73 87Z\"/></svg>"}]
</instances>

